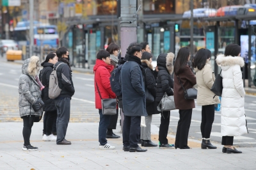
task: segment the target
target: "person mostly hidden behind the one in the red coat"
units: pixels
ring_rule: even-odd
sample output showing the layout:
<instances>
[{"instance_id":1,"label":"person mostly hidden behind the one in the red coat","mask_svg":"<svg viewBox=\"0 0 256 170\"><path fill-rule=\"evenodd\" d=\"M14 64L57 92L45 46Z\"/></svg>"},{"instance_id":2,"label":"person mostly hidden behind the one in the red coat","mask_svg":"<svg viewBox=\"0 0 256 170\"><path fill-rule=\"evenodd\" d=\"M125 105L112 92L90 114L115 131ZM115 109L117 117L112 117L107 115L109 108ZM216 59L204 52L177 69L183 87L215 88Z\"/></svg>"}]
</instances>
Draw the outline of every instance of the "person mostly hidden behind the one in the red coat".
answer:
<instances>
[{"instance_id":1,"label":"person mostly hidden behind the one in the red coat","mask_svg":"<svg viewBox=\"0 0 256 170\"><path fill-rule=\"evenodd\" d=\"M116 45L115 43L110 43L108 45L108 48L106 49L106 51L109 52L110 54L110 60L111 60L111 65L114 66L114 69L118 66L118 53L119 53L120 47L118 47L118 45ZM108 126L108 130L107 130L107 138L119 138L119 135L116 135L113 133L113 129L116 129L116 124L117 124L117 120L118 120L118 107L116 109L116 114L115 115L111 115L110 118L110 123Z\"/></svg>"}]
</instances>

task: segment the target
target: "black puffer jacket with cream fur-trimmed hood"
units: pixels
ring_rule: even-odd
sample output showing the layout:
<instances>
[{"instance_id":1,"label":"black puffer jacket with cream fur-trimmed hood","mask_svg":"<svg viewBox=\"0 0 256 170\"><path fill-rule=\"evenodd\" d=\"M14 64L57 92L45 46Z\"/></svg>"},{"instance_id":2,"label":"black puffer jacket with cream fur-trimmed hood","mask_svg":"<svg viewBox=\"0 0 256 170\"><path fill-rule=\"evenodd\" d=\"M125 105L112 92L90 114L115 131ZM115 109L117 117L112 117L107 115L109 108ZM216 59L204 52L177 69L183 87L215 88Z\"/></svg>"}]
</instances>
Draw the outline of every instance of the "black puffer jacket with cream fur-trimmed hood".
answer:
<instances>
[{"instance_id":1,"label":"black puffer jacket with cream fur-trimmed hood","mask_svg":"<svg viewBox=\"0 0 256 170\"><path fill-rule=\"evenodd\" d=\"M157 86L156 86L156 102L160 102L166 93L168 96L173 96L173 79L171 77L173 72L173 58L172 52L168 54L160 54L157 58Z\"/></svg>"}]
</instances>

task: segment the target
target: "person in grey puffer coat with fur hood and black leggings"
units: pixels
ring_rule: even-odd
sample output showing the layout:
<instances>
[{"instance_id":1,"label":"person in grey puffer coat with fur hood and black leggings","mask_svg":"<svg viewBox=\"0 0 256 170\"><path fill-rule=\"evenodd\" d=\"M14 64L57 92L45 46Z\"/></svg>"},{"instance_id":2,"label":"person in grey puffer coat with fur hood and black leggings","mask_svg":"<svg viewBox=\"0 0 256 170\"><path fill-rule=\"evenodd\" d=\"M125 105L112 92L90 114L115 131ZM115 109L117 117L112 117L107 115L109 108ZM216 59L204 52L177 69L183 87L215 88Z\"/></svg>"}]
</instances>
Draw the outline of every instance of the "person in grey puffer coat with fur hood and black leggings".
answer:
<instances>
[{"instance_id":1,"label":"person in grey puffer coat with fur hood and black leggings","mask_svg":"<svg viewBox=\"0 0 256 170\"><path fill-rule=\"evenodd\" d=\"M41 98L42 87L38 84L38 73L39 73L39 58L32 56L26 59L22 65L22 73L19 77L19 112L20 118L23 120L23 131L22 135L24 138L24 151L35 151L38 150L30 144L31 128L35 117L42 116L43 108L38 111L34 111L33 105L36 104Z\"/></svg>"}]
</instances>

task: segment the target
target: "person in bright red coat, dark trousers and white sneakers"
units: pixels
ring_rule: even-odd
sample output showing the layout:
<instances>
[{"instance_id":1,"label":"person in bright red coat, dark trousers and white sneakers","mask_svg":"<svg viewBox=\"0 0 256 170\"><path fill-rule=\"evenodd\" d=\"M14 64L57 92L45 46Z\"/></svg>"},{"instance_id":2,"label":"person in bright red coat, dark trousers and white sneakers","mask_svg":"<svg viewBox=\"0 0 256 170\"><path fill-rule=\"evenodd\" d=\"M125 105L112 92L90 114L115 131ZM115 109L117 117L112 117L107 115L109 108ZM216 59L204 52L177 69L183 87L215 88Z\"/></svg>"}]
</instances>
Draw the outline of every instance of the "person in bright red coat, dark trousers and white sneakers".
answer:
<instances>
[{"instance_id":1,"label":"person in bright red coat, dark trousers and white sneakers","mask_svg":"<svg viewBox=\"0 0 256 170\"><path fill-rule=\"evenodd\" d=\"M110 54L106 50L99 50L97 54L96 64L93 67L95 74L94 87L95 87L95 108L99 109L100 122L99 122L99 148L100 150L114 150L115 146L108 144L106 139L106 132L109 126L111 115L102 113L101 99L116 98L115 93L111 90L110 86L110 72L113 70L111 65Z\"/></svg>"}]
</instances>

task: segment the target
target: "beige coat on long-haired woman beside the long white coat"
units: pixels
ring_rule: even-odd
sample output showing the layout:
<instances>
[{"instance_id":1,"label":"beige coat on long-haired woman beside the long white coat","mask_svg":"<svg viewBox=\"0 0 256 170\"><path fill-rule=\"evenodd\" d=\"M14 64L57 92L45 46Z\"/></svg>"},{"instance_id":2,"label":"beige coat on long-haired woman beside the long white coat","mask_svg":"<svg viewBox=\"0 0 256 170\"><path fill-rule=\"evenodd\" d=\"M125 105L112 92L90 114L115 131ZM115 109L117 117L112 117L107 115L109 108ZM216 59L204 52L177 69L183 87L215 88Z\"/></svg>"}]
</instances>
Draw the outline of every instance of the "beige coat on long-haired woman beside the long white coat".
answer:
<instances>
[{"instance_id":1,"label":"beige coat on long-haired woman beside the long white coat","mask_svg":"<svg viewBox=\"0 0 256 170\"><path fill-rule=\"evenodd\" d=\"M197 105L212 105L219 104L220 98L212 91L212 85L215 81L215 75L212 72L211 65L206 63L202 70L194 68L196 72L196 84L198 86L196 104Z\"/></svg>"}]
</instances>

